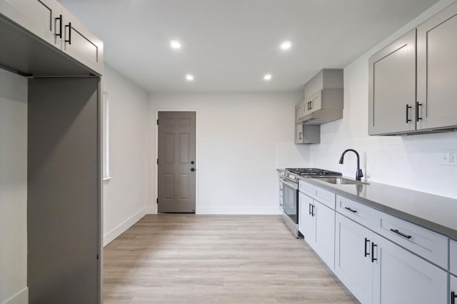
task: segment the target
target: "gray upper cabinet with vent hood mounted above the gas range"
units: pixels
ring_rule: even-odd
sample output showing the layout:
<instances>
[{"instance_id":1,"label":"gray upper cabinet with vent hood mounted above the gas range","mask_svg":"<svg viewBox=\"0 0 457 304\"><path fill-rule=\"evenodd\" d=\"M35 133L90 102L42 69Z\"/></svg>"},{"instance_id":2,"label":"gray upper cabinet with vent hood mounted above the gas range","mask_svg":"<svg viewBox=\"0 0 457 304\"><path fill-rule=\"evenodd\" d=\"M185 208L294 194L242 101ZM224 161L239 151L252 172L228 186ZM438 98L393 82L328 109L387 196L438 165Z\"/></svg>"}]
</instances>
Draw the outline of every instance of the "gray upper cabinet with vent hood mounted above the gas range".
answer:
<instances>
[{"instance_id":1,"label":"gray upper cabinet with vent hood mounted above the gas range","mask_svg":"<svg viewBox=\"0 0 457 304\"><path fill-rule=\"evenodd\" d=\"M343 69L323 69L304 86L302 116L296 123L317 125L343 118Z\"/></svg>"}]
</instances>

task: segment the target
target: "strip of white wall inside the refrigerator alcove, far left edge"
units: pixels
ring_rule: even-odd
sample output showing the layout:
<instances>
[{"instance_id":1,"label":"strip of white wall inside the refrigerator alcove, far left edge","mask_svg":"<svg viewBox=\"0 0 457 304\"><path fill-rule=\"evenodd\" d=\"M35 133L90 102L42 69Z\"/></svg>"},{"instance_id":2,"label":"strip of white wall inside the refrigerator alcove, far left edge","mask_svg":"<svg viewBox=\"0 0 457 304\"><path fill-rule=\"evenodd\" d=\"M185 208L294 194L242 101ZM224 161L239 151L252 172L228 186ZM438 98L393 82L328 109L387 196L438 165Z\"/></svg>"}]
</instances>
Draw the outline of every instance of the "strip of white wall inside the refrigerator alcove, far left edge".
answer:
<instances>
[{"instance_id":1,"label":"strip of white wall inside the refrigerator alcove, far left edge","mask_svg":"<svg viewBox=\"0 0 457 304\"><path fill-rule=\"evenodd\" d=\"M27 302L27 79L0 69L0 303Z\"/></svg>"}]
</instances>

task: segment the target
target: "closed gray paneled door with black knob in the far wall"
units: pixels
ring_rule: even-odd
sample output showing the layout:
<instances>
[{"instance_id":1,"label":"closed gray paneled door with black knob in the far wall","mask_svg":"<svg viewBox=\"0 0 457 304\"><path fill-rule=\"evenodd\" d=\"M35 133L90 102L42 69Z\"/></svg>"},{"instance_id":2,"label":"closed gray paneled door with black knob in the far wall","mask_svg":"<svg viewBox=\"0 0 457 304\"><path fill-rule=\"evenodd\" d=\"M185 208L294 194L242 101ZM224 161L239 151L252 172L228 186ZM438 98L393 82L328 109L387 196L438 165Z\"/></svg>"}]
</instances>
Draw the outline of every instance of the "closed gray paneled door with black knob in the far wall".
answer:
<instances>
[{"instance_id":1,"label":"closed gray paneled door with black knob in the far wall","mask_svg":"<svg viewBox=\"0 0 457 304\"><path fill-rule=\"evenodd\" d=\"M195 112L159 112L158 211L195 213Z\"/></svg>"}]
</instances>

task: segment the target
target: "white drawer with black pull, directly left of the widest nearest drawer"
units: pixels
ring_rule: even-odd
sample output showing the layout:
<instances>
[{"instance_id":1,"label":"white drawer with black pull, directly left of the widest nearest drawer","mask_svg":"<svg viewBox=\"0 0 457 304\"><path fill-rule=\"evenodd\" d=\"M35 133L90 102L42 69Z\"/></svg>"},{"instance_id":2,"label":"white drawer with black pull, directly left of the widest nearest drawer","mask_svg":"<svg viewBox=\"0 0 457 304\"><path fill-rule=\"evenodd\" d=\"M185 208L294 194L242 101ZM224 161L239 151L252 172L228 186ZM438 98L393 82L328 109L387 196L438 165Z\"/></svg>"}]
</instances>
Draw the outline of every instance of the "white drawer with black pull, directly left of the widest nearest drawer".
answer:
<instances>
[{"instance_id":1,"label":"white drawer with black pull, directly left of the widest nearest drawer","mask_svg":"<svg viewBox=\"0 0 457 304\"><path fill-rule=\"evenodd\" d=\"M343 196L336 196L336 211L371 229L377 226L381 218L381 212Z\"/></svg>"}]
</instances>

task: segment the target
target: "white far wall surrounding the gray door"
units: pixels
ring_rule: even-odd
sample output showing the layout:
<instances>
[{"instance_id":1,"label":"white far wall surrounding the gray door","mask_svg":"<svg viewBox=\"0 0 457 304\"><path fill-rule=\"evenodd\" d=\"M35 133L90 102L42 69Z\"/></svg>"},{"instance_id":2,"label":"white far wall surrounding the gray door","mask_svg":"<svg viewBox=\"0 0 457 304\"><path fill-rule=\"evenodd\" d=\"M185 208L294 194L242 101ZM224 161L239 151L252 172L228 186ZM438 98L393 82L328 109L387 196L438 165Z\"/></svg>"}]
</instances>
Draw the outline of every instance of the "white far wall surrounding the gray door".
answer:
<instances>
[{"instance_id":1,"label":"white far wall surrounding the gray door","mask_svg":"<svg viewBox=\"0 0 457 304\"><path fill-rule=\"evenodd\" d=\"M157 110L197 111L197 213L278 213L278 163L301 159L293 106L301 93L152 93ZM149 206L156 211L156 126L150 126ZM277 155L276 151L280 154ZM292 152L290 152L292 151Z\"/></svg>"}]
</instances>

